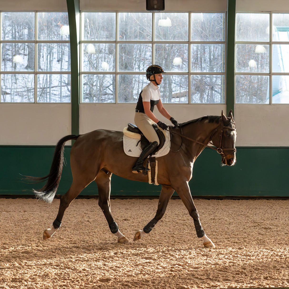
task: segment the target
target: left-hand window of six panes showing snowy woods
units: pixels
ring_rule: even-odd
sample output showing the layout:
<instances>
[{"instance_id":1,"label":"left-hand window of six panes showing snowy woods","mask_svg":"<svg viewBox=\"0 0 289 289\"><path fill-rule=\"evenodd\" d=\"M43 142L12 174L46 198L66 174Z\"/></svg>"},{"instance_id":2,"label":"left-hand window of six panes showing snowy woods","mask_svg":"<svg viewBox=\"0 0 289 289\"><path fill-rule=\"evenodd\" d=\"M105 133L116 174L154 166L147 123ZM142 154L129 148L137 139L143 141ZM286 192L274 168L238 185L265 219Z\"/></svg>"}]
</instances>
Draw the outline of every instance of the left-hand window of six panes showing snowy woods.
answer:
<instances>
[{"instance_id":1,"label":"left-hand window of six panes showing snowy woods","mask_svg":"<svg viewBox=\"0 0 289 289\"><path fill-rule=\"evenodd\" d=\"M1 12L0 42L1 102L71 101L67 12Z\"/></svg>"}]
</instances>

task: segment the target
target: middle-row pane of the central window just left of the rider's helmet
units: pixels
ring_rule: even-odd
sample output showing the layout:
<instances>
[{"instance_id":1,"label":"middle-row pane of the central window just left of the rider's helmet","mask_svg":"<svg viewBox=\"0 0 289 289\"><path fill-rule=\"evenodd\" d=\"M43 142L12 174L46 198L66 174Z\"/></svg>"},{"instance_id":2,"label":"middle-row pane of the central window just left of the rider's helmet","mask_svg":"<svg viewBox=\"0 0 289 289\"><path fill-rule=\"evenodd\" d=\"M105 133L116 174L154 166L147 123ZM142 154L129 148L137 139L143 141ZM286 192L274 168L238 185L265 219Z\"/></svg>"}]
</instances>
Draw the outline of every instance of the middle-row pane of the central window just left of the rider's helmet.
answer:
<instances>
[{"instance_id":1,"label":"middle-row pane of the central window just left of the rider's helmet","mask_svg":"<svg viewBox=\"0 0 289 289\"><path fill-rule=\"evenodd\" d=\"M118 45L119 71L145 71L149 65L151 65L151 44Z\"/></svg>"}]
</instances>

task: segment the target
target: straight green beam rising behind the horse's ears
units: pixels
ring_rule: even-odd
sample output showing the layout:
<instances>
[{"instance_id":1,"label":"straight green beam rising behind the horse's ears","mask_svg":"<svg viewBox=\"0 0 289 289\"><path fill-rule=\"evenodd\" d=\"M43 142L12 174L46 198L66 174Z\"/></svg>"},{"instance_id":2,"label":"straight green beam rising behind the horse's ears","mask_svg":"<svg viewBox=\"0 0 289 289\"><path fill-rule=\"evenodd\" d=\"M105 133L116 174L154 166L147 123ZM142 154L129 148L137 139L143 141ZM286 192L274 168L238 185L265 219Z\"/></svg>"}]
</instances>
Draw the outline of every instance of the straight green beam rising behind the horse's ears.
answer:
<instances>
[{"instance_id":1,"label":"straight green beam rising behind the horse's ears","mask_svg":"<svg viewBox=\"0 0 289 289\"><path fill-rule=\"evenodd\" d=\"M227 0L227 115L230 110L233 111L234 115L235 19L236 0Z\"/></svg>"}]
</instances>

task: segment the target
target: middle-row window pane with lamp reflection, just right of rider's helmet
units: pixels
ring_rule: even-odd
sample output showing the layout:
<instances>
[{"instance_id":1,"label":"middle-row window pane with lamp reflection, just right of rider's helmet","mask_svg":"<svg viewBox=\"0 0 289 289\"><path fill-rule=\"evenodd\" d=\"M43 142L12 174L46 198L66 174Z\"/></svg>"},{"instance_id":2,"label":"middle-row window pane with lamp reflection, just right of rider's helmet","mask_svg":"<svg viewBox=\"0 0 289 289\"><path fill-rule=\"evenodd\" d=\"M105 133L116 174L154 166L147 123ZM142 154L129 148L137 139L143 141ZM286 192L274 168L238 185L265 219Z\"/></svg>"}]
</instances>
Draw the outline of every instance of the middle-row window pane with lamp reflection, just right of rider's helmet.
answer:
<instances>
[{"instance_id":1,"label":"middle-row window pane with lamp reflection, just right of rider's helmet","mask_svg":"<svg viewBox=\"0 0 289 289\"><path fill-rule=\"evenodd\" d=\"M187 44L156 44L155 64L162 66L165 72L188 71Z\"/></svg>"}]
</instances>

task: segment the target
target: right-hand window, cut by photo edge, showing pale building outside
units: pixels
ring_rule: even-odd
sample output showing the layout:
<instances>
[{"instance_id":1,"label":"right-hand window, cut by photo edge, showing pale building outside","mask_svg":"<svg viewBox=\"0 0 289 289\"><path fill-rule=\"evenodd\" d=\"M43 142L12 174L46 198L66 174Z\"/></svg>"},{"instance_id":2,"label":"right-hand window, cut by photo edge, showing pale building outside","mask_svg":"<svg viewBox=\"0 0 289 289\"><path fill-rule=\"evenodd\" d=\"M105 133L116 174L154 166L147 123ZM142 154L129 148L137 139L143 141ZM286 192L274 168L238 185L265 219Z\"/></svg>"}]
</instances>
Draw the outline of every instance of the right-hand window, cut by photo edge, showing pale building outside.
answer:
<instances>
[{"instance_id":1,"label":"right-hand window, cut by photo edge, showing pale building outside","mask_svg":"<svg viewBox=\"0 0 289 289\"><path fill-rule=\"evenodd\" d=\"M236 14L236 103L289 103L289 14Z\"/></svg>"}]
</instances>

